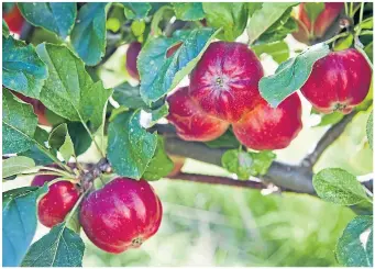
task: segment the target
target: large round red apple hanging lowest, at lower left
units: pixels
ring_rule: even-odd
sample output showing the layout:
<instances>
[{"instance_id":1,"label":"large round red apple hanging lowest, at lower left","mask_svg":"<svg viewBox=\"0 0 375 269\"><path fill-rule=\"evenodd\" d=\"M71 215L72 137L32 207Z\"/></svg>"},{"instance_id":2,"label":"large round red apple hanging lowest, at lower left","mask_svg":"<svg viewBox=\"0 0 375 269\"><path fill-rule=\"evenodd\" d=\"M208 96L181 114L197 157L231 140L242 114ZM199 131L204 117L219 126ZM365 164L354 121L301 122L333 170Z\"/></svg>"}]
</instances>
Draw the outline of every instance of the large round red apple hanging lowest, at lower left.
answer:
<instances>
[{"instance_id":1,"label":"large round red apple hanging lowest, at lower left","mask_svg":"<svg viewBox=\"0 0 375 269\"><path fill-rule=\"evenodd\" d=\"M161 200L147 181L115 178L84 200L79 220L97 247L119 254L153 236L162 214Z\"/></svg>"}]
</instances>

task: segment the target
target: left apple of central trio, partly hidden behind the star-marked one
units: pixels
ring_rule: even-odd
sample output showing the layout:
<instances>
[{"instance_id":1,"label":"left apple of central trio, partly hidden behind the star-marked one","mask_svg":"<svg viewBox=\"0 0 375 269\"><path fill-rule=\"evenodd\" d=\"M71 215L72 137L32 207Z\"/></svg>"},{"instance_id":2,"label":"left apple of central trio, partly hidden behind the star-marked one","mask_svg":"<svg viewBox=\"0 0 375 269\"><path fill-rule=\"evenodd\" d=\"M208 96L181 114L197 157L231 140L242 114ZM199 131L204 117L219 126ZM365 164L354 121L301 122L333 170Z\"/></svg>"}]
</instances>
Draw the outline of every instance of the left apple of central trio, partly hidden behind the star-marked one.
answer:
<instances>
[{"instance_id":1,"label":"left apple of central trio, partly hidden behind the star-marked one","mask_svg":"<svg viewBox=\"0 0 375 269\"><path fill-rule=\"evenodd\" d=\"M184 141L213 141L221 136L229 123L205 113L189 97L188 87L176 90L167 98L167 120L175 125L177 135Z\"/></svg>"}]
</instances>

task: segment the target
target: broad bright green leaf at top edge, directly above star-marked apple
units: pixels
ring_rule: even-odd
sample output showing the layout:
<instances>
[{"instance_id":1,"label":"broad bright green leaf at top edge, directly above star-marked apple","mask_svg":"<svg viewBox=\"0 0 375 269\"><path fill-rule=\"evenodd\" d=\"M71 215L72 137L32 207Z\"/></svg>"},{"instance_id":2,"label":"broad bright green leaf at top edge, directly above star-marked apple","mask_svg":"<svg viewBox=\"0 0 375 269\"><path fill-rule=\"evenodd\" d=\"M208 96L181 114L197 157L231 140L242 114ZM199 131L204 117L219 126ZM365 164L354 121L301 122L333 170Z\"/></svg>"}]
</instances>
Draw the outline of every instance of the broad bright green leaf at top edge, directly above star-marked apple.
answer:
<instances>
[{"instance_id":1,"label":"broad bright green leaf at top edge, directly above star-marked apple","mask_svg":"<svg viewBox=\"0 0 375 269\"><path fill-rule=\"evenodd\" d=\"M207 24L213 29L223 29L218 34L220 40L235 41L246 27L246 3L203 2Z\"/></svg>"}]
</instances>

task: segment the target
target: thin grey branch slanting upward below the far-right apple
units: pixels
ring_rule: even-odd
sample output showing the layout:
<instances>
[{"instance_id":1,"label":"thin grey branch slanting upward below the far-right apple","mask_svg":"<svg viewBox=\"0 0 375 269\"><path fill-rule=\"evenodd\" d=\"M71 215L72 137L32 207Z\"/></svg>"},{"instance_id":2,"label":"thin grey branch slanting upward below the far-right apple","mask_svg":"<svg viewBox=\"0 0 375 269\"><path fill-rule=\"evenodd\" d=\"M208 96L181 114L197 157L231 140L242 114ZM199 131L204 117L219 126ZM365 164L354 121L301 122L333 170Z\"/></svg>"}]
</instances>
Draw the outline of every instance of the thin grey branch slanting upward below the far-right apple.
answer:
<instances>
[{"instance_id":1,"label":"thin grey branch slanting upward below the far-right apple","mask_svg":"<svg viewBox=\"0 0 375 269\"><path fill-rule=\"evenodd\" d=\"M353 120L357 112L352 112L345 115L340 122L334 124L331 128L329 128L326 134L320 138L316 148L306 156L302 161L301 166L307 168L312 168L315 164L317 164L320 156L323 152L343 133L346 125Z\"/></svg>"}]
</instances>

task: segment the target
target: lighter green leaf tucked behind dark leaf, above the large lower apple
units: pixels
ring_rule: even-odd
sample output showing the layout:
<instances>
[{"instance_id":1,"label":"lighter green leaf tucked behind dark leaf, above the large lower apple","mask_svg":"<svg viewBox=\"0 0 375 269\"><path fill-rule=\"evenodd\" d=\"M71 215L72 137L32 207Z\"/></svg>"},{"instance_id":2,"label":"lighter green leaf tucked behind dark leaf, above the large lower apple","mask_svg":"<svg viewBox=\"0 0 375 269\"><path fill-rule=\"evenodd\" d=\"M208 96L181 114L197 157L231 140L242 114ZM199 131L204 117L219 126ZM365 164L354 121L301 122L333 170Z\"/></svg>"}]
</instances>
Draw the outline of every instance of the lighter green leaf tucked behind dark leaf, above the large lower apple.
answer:
<instances>
[{"instance_id":1,"label":"lighter green leaf tucked behind dark leaf, above the large lower apple","mask_svg":"<svg viewBox=\"0 0 375 269\"><path fill-rule=\"evenodd\" d=\"M150 161L142 178L145 180L158 180L166 177L173 170L174 166L174 162L165 153L163 136L157 136L157 146L154 157Z\"/></svg>"}]
</instances>

